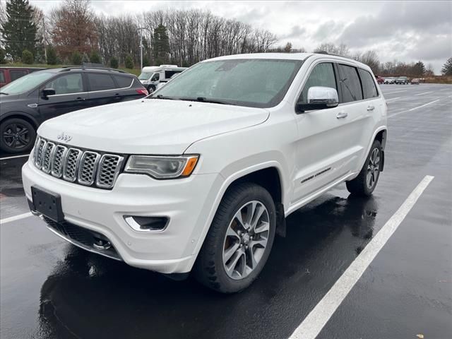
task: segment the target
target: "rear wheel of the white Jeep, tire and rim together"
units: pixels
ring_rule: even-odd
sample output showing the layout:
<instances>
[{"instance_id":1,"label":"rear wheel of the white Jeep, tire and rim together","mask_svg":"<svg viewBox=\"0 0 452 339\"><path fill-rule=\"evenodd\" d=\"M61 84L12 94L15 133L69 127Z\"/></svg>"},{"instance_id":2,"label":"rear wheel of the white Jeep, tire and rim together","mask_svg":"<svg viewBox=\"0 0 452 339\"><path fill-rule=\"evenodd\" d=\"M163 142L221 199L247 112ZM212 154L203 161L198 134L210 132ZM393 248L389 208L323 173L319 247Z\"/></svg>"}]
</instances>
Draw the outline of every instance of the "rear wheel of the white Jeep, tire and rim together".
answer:
<instances>
[{"instance_id":1,"label":"rear wheel of the white Jeep, tire and rim together","mask_svg":"<svg viewBox=\"0 0 452 339\"><path fill-rule=\"evenodd\" d=\"M355 179L346 182L347 190L355 196L371 196L379 181L382 164L381 143L375 140L370 148L369 155L362 166L361 172Z\"/></svg>"}]
</instances>

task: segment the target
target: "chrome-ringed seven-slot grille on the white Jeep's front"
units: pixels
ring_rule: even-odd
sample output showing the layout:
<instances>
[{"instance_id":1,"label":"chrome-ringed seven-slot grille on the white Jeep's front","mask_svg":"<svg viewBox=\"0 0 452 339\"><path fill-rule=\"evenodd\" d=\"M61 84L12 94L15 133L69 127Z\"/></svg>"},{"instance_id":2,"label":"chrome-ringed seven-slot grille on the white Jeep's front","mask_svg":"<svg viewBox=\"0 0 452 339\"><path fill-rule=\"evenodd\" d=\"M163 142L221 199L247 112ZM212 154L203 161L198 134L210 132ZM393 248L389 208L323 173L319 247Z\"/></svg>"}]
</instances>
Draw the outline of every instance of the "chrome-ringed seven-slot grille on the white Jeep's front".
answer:
<instances>
[{"instance_id":1,"label":"chrome-ringed seven-slot grille on the white Jeep's front","mask_svg":"<svg viewBox=\"0 0 452 339\"><path fill-rule=\"evenodd\" d=\"M42 172L86 186L111 189L121 170L124 157L93 150L67 148L37 138L33 153L35 166Z\"/></svg>"}]
</instances>

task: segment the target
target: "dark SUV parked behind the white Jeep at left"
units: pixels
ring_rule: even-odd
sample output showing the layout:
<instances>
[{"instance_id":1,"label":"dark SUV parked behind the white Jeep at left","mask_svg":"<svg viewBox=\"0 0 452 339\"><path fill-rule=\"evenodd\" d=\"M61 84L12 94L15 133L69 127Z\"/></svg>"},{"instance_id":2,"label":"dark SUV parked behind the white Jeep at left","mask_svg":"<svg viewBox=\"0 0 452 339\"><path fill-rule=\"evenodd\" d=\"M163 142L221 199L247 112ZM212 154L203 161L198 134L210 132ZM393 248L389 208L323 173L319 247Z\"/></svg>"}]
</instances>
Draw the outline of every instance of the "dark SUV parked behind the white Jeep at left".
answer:
<instances>
[{"instance_id":1,"label":"dark SUV parked behind the white Jeep at left","mask_svg":"<svg viewBox=\"0 0 452 339\"><path fill-rule=\"evenodd\" d=\"M0 88L0 148L28 151L42 121L146 95L136 76L115 69L68 67L30 73Z\"/></svg>"}]
</instances>

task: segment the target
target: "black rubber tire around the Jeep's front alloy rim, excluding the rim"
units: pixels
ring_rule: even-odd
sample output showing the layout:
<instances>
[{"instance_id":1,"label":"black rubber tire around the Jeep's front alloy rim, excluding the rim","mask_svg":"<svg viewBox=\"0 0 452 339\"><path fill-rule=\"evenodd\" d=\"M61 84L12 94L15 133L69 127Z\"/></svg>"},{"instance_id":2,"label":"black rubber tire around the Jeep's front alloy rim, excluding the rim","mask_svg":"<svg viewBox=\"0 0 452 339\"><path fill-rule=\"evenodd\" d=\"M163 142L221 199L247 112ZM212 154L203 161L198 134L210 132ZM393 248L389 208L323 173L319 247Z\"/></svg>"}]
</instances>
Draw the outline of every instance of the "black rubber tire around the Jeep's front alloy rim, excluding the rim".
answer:
<instances>
[{"instance_id":1,"label":"black rubber tire around the Jeep's front alloy rim, excluding the rim","mask_svg":"<svg viewBox=\"0 0 452 339\"><path fill-rule=\"evenodd\" d=\"M268 210L268 218L270 221L268 242L261 261L259 261L258 266L256 266L253 272L251 272L246 278L242 280L234 280L230 278L225 271L222 262L222 251L225 242L226 231L230 225L230 222L232 221L232 218L234 218L237 210L239 210L239 208L242 208L242 206L244 206L249 201L259 201L263 203L263 205ZM244 191L244 194L241 194L241 196L235 201L234 207L229 209L225 220L221 220L221 222L222 227L219 237L217 237L214 242L215 256L213 260L215 262L215 270L218 274L218 282L220 283L220 285L225 287L225 292L237 292L248 287L257 278L259 273L261 273L263 266L265 266L268 256L270 256L270 251L273 246L276 230L275 203L273 202L272 197L270 196L268 191L266 191L266 189L263 189L261 186L253 186L251 187L251 189Z\"/></svg>"}]
</instances>

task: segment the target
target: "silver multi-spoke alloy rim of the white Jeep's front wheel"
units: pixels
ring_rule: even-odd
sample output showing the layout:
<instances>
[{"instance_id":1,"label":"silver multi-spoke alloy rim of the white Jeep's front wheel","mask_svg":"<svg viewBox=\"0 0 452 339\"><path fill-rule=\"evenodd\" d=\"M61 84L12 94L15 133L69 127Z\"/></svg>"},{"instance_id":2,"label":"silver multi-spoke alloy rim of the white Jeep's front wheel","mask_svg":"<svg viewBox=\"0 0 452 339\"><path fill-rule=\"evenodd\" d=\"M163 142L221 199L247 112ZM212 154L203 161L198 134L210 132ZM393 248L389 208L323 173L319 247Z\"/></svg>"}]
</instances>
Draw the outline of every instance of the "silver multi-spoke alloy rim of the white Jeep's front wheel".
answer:
<instances>
[{"instance_id":1,"label":"silver multi-spoke alloy rim of the white Jeep's front wheel","mask_svg":"<svg viewBox=\"0 0 452 339\"><path fill-rule=\"evenodd\" d=\"M260 201L244 204L227 227L222 261L226 274L234 279L246 278L258 266L265 253L270 234L270 218Z\"/></svg>"}]
</instances>

